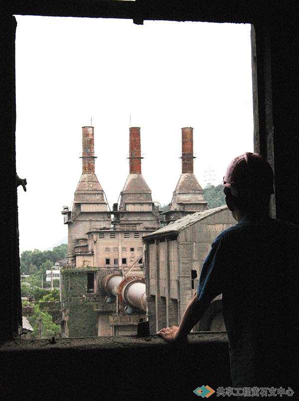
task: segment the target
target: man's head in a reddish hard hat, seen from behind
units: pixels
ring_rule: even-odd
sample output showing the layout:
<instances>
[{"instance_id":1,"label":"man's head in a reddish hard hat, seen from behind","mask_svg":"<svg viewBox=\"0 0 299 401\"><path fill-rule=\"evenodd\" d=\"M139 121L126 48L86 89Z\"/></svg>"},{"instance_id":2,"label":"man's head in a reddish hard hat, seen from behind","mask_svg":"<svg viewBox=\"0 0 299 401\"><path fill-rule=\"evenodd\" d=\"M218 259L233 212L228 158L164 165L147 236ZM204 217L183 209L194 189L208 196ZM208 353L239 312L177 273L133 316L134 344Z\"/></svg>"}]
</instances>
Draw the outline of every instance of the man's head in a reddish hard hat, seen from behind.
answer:
<instances>
[{"instance_id":1,"label":"man's head in a reddish hard hat, seen from behind","mask_svg":"<svg viewBox=\"0 0 299 401\"><path fill-rule=\"evenodd\" d=\"M225 200L233 216L265 214L273 190L273 171L263 156L246 152L228 166L222 185ZM237 215L237 216L236 216Z\"/></svg>"}]
</instances>

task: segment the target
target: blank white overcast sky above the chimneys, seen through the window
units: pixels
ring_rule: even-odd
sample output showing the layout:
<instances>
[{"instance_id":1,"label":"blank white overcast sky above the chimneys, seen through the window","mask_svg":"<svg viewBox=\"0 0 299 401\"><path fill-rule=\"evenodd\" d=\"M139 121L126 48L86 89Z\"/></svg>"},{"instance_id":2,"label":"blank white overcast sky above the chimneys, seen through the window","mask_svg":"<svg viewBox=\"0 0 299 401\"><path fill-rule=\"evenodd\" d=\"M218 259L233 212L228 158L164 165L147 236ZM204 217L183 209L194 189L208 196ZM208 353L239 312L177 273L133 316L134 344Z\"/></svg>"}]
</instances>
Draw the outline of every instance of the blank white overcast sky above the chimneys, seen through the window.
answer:
<instances>
[{"instance_id":1,"label":"blank white overcast sky above the chimneys, seen through the window","mask_svg":"<svg viewBox=\"0 0 299 401\"><path fill-rule=\"evenodd\" d=\"M219 184L253 151L249 24L16 16L16 160L20 251L67 236L82 172L82 126L95 127L96 175L112 206L141 127L142 172L153 201L171 201L181 128L193 127L194 174Z\"/></svg>"}]
</instances>

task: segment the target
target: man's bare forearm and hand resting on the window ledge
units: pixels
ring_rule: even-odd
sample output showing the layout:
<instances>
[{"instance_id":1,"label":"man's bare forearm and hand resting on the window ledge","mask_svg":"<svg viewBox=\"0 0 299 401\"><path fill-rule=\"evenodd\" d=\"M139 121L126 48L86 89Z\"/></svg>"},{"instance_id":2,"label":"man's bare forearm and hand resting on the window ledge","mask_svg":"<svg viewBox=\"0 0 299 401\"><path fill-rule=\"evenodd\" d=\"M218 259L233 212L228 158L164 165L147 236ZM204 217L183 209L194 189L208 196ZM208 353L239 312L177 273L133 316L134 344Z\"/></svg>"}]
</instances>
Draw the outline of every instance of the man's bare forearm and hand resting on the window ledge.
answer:
<instances>
[{"instance_id":1,"label":"man's bare forearm and hand resting on the window ledge","mask_svg":"<svg viewBox=\"0 0 299 401\"><path fill-rule=\"evenodd\" d=\"M183 314L179 327L173 326L161 329L157 332L157 335L168 342L186 340L187 335L201 319L209 305L210 301L203 302L198 300L196 291Z\"/></svg>"}]
</instances>

